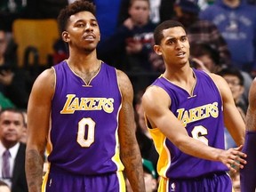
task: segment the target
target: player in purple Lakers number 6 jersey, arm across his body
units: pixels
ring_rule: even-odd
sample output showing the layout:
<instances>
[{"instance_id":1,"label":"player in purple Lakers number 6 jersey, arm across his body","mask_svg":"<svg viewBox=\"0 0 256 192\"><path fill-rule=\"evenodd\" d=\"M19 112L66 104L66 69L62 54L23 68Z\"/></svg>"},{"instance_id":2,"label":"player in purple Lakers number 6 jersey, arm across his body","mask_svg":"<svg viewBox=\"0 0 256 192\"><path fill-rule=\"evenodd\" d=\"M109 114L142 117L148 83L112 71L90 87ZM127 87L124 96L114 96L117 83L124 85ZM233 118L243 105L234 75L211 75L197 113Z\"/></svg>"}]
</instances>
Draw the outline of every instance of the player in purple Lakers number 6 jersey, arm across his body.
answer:
<instances>
[{"instance_id":1,"label":"player in purple Lakers number 6 jersey, arm across his body","mask_svg":"<svg viewBox=\"0 0 256 192\"><path fill-rule=\"evenodd\" d=\"M183 25L166 20L154 32L165 71L142 98L159 159L158 191L231 192L228 169L243 168L244 121L221 76L189 66ZM224 150L224 122L237 148Z\"/></svg>"}]
</instances>

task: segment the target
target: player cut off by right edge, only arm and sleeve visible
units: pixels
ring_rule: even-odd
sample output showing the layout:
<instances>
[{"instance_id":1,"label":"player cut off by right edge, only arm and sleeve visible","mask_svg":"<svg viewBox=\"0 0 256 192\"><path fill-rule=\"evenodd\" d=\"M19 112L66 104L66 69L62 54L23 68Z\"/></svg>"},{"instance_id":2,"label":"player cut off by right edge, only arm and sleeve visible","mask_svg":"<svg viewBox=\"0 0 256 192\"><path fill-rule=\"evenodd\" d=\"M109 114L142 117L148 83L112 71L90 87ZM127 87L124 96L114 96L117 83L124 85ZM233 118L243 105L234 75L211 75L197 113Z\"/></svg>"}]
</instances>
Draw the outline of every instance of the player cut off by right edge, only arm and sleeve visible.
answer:
<instances>
[{"instance_id":1,"label":"player cut off by right edge, only arm and sleeve visible","mask_svg":"<svg viewBox=\"0 0 256 192\"><path fill-rule=\"evenodd\" d=\"M241 192L255 192L256 190L256 78L249 91L249 107L246 113L246 134L244 153L248 154L247 164L240 171Z\"/></svg>"}]
</instances>

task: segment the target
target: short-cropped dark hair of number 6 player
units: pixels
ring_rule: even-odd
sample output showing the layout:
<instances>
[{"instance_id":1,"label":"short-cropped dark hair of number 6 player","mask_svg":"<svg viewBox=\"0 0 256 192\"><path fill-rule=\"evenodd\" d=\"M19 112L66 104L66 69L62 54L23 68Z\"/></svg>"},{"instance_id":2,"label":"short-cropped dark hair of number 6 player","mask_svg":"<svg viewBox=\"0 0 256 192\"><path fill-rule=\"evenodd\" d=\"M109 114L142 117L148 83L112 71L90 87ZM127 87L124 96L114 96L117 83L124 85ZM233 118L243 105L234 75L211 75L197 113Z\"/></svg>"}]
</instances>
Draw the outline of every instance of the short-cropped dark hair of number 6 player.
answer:
<instances>
[{"instance_id":1,"label":"short-cropped dark hair of number 6 player","mask_svg":"<svg viewBox=\"0 0 256 192\"><path fill-rule=\"evenodd\" d=\"M154 40L155 44L161 44L162 39L164 38L163 30L167 28L175 28L175 27L181 27L185 31L185 27L177 20L165 20L161 24L159 24L154 31Z\"/></svg>"}]
</instances>

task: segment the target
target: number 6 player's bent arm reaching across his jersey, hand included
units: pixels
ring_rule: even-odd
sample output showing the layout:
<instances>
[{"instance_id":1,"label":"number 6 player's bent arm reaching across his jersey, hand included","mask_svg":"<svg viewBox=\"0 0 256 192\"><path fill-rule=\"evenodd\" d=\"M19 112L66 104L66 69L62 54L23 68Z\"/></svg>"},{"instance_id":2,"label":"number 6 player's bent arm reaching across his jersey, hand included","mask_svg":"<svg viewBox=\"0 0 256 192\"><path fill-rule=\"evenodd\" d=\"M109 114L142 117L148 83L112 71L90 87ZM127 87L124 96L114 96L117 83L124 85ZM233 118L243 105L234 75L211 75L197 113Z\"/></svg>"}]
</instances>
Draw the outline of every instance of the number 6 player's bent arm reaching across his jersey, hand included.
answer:
<instances>
[{"instance_id":1,"label":"number 6 player's bent arm reaching across his jersey, hand included","mask_svg":"<svg viewBox=\"0 0 256 192\"><path fill-rule=\"evenodd\" d=\"M146 116L153 127L158 127L164 135L180 150L190 156L196 156L212 161L220 161L226 164L231 171L236 171L230 164L243 168L244 159L238 156L245 156L240 152L240 148L230 148L227 151L219 148L212 148L205 145L202 141L188 136L185 127L180 123L169 109L171 100L163 89L152 86L142 97L142 105ZM241 164L236 164L236 161Z\"/></svg>"}]
</instances>

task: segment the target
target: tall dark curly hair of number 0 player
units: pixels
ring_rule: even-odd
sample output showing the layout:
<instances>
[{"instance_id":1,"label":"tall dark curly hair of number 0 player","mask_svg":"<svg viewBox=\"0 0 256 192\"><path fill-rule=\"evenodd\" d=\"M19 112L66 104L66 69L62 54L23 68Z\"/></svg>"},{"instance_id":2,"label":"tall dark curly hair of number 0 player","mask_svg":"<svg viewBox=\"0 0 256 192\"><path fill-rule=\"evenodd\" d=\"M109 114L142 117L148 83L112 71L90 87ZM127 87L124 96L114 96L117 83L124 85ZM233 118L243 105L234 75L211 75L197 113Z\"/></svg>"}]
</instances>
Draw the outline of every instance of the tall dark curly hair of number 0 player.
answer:
<instances>
[{"instance_id":1,"label":"tall dark curly hair of number 0 player","mask_svg":"<svg viewBox=\"0 0 256 192\"><path fill-rule=\"evenodd\" d=\"M68 19L71 15L77 12L92 12L95 16L96 8L91 1L87 0L76 0L73 4L68 4L64 9L60 11L58 16L58 25L60 34L66 30Z\"/></svg>"}]
</instances>

